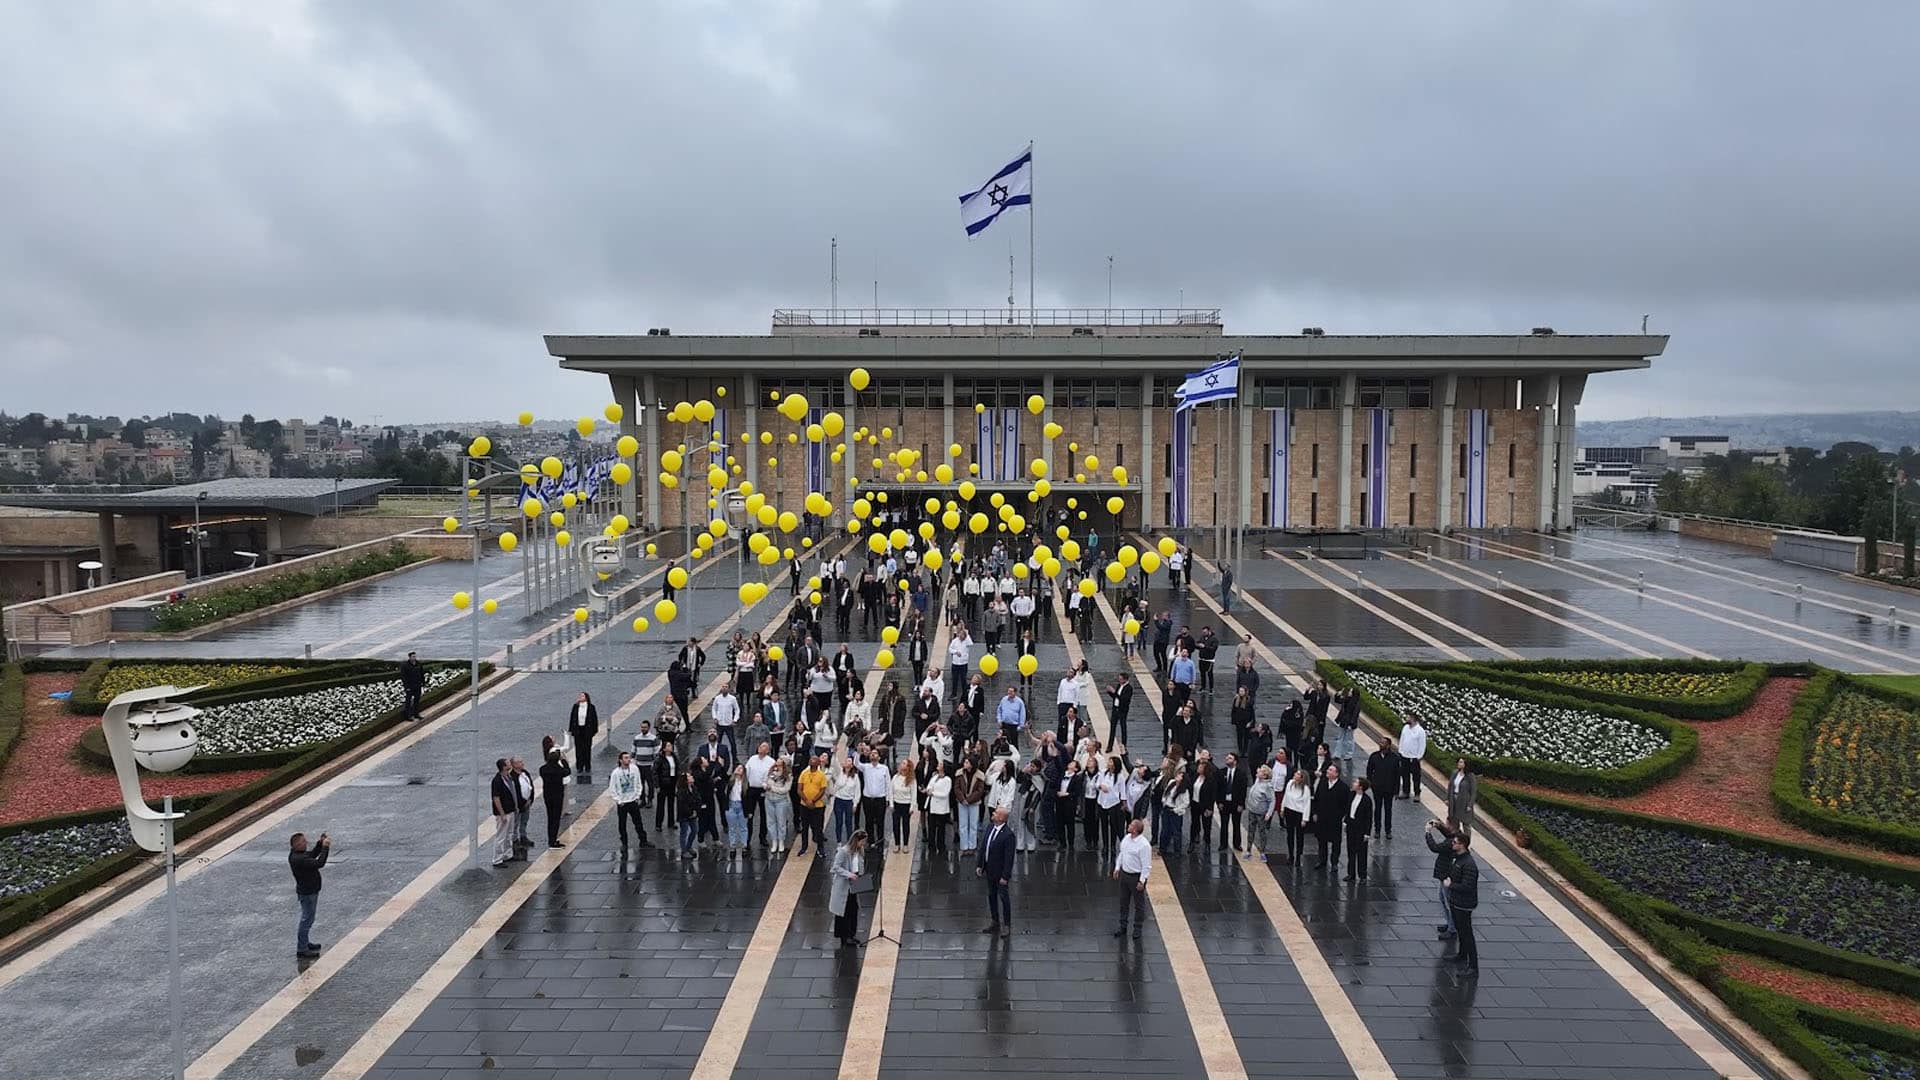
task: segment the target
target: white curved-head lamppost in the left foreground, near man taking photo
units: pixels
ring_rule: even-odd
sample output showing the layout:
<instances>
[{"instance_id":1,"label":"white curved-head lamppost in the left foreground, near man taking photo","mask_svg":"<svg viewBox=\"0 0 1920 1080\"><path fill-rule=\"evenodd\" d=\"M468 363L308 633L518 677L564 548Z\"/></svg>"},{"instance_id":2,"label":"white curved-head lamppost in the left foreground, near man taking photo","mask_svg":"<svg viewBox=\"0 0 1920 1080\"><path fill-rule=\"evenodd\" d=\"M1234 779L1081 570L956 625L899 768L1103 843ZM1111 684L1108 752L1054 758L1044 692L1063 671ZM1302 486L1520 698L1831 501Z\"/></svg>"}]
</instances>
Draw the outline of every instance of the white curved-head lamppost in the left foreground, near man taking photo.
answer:
<instances>
[{"instance_id":1,"label":"white curved-head lamppost in the left foreground, near man taking photo","mask_svg":"<svg viewBox=\"0 0 1920 1080\"><path fill-rule=\"evenodd\" d=\"M136 765L152 773L173 773L194 759L200 732L194 717L200 709L169 698L192 694L200 686L148 686L129 690L108 703L100 717L100 734L113 755L113 774L119 778L121 801L127 805L127 830L144 851L163 851L167 857L167 1003L173 1017L173 1078L186 1078L186 1034L180 1026L180 903L173 884L173 822L186 817L173 813L173 796L161 809L146 805L140 794Z\"/></svg>"}]
</instances>

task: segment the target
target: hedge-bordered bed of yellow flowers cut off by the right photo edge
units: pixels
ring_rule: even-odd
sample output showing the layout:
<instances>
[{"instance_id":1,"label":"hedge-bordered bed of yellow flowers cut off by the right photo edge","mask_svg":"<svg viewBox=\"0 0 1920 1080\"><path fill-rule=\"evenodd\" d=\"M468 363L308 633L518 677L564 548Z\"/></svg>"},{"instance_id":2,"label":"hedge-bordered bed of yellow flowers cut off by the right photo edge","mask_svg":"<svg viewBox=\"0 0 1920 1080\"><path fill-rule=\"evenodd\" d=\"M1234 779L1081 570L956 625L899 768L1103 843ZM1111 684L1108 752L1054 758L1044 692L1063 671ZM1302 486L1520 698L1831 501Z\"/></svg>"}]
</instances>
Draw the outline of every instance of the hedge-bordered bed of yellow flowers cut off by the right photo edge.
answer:
<instances>
[{"instance_id":1,"label":"hedge-bordered bed of yellow flowers cut off by the right photo edge","mask_svg":"<svg viewBox=\"0 0 1920 1080\"><path fill-rule=\"evenodd\" d=\"M1920 855L1920 698L1822 671L1780 732L1772 799L1814 832Z\"/></svg>"}]
</instances>

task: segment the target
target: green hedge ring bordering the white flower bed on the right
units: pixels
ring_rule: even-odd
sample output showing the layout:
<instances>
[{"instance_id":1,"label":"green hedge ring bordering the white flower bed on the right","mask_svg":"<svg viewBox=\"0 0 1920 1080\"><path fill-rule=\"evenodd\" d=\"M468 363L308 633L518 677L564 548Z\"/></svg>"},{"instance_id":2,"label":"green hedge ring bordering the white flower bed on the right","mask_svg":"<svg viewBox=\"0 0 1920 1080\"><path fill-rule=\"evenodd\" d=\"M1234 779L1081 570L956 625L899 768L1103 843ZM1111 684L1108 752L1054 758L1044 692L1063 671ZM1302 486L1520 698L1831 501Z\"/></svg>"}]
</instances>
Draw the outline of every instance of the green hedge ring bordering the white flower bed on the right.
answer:
<instances>
[{"instance_id":1,"label":"green hedge ring bordering the white flower bed on the right","mask_svg":"<svg viewBox=\"0 0 1920 1080\"><path fill-rule=\"evenodd\" d=\"M1619 769L1580 769L1574 765L1561 765L1555 761L1528 761L1523 757L1476 757L1473 753L1459 753L1455 749L1442 749L1438 738L1427 742L1427 761L1430 761L1442 773L1452 773L1453 759L1465 757L1480 771L1482 776L1496 780L1521 780L1526 784L1542 784L1546 788L1559 788L1563 792L1582 792L1592 796L1630 796L1634 792L1644 792L1661 780L1680 774L1693 753L1699 751L1699 734L1678 721L1661 717L1659 713L1647 713L1644 709L1626 709L1620 705L1596 705L1592 701L1582 701L1578 698L1567 698L1563 694L1544 694L1532 688L1521 688L1513 682L1501 682L1496 678L1482 678L1471 675L1467 669L1432 665L1417 667L1405 663L1386 663L1386 661L1348 661L1346 667L1331 659L1323 659L1315 665L1321 678L1336 686L1352 686L1359 692L1359 703L1373 719L1380 721L1390 732L1400 732L1402 719L1400 713L1390 709L1384 701L1367 692L1365 686L1357 684L1348 669L1367 671L1375 675L1398 675L1405 678L1428 678L1434 682L1467 686L1473 690L1486 690L1490 694L1501 694L1507 698L1521 698L1538 705L1549 705L1557 709L1580 709L1588 713L1603 713L1622 721L1632 721L1636 724L1653 728L1667 736L1667 748L1640 761L1632 761Z\"/></svg>"}]
</instances>

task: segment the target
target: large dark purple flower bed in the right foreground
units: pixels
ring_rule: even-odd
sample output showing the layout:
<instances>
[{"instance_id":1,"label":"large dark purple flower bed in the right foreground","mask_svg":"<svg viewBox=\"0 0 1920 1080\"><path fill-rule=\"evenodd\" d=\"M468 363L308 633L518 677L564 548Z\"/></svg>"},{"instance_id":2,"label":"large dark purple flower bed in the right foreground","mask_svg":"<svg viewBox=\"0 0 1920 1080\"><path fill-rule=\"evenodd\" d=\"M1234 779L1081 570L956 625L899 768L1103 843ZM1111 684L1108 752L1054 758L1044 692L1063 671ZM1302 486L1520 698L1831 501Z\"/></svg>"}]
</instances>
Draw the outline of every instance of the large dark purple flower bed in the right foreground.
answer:
<instances>
[{"instance_id":1,"label":"large dark purple flower bed in the right foreground","mask_svg":"<svg viewBox=\"0 0 1920 1080\"><path fill-rule=\"evenodd\" d=\"M1859 863L1812 859L1788 846L1740 844L1730 834L1668 828L1655 819L1603 815L1565 803L1515 799L1599 874L1619 886L1711 919L1805 938L1874 957L1920 967L1920 909L1916 878L1868 874ZM1695 926L1709 930L1707 926ZM1920 970L1914 972L1920 978Z\"/></svg>"}]
</instances>

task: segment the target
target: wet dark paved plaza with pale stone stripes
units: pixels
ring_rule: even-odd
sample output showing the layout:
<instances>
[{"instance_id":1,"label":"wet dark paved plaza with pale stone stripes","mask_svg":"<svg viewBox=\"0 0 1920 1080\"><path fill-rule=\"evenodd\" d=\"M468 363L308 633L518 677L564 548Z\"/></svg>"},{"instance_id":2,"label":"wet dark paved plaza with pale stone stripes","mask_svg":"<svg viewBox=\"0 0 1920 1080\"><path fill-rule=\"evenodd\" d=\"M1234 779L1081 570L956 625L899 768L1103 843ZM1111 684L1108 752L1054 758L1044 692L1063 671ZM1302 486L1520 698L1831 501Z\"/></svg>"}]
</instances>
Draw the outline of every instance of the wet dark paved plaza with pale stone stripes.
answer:
<instances>
[{"instance_id":1,"label":"wet dark paved plaza with pale stone stripes","mask_svg":"<svg viewBox=\"0 0 1920 1080\"><path fill-rule=\"evenodd\" d=\"M678 552L678 534L657 542L662 557ZM1217 605L1212 544L1198 536L1194 550L1206 594L1156 588L1152 601L1171 601L1194 628L1215 626L1223 657L1246 634L1261 642L1261 719L1292 696L1284 673L1311 673L1329 655L1697 655L1920 671L1905 611L1889 619L1905 594L1672 534L1415 534L1365 559L1269 550L1250 536L1231 617ZM493 757L532 757L580 690L601 703L603 734L611 723L624 746L659 709L666 663L693 626L714 653L705 698L722 651L712 634L766 630L785 613L783 577L768 601L741 609L735 586L751 571L722 552L695 563L687 615L636 638L628 621L659 596L660 565L643 567L612 619L576 626L570 607L522 607L518 559L484 559L480 596L501 609L482 621L480 651L503 667L513 651L511 673L478 707L453 700L330 784L186 853L190 1076L1774 1076L1498 844L1476 844L1480 976L1455 976L1434 938L1432 857L1419 830L1432 794L1396 803L1398 828L1375 846L1367 882L1217 847L1156 857L1140 942L1112 938L1110 857L1020 855L1016 932L996 938L981 934L972 863L916 847L874 855L879 888L862 913L887 938L837 949L826 861L682 861L662 836L622 853L599 786L570 788L568 847L482 869L468 847ZM323 657L461 659L470 625L447 596L470 588L472 573L432 563L117 655L311 646ZM858 621L854 630L864 669L877 644ZM1054 680L1077 655L1102 686L1127 663L1110 621L1085 644L1044 623L1033 701L1048 721ZM1010 671L991 680L995 694ZM904 665L887 676L910 682ZM1202 698L1213 746L1233 740L1229 696ZM1154 726L1137 701L1135 742L1158 759ZM605 763L595 778L605 782ZM290 947L294 830L336 838L315 926L326 951L305 967ZM0 1076L165 1074L163 930L159 886L144 886L0 967L10 1030Z\"/></svg>"}]
</instances>

